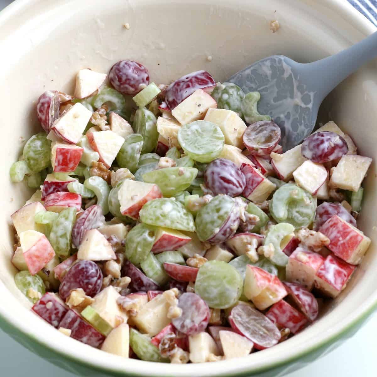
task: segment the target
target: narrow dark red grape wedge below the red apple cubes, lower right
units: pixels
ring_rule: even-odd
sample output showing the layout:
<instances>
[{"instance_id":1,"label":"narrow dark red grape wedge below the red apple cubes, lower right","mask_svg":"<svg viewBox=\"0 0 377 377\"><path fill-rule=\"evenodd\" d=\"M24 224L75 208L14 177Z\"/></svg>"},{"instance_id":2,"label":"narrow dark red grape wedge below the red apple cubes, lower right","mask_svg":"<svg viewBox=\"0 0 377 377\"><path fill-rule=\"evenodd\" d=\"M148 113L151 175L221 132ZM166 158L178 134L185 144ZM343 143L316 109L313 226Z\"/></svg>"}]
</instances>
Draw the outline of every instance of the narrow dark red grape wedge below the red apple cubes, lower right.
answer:
<instances>
[{"instance_id":1,"label":"narrow dark red grape wedge below the red apple cubes, lower right","mask_svg":"<svg viewBox=\"0 0 377 377\"><path fill-rule=\"evenodd\" d=\"M300 311L313 322L318 316L318 301L307 289L297 283L283 282L289 297Z\"/></svg>"}]
</instances>

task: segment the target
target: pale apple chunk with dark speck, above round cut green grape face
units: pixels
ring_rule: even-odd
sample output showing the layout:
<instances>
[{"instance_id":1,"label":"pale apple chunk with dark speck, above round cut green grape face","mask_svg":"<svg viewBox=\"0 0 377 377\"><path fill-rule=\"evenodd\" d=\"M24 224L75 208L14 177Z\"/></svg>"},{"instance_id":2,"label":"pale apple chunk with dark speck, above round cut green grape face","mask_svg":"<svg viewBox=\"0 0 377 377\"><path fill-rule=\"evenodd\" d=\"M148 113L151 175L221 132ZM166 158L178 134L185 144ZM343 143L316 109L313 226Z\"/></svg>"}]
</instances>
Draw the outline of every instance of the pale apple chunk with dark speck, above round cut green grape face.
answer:
<instances>
[{"instance_id":1,"label":"pale apple chunk with dark speck, above round cut green grape face","mask_svg":"<svg viewBox=\"0 0 377 377\"><path fill-rule=\"evenodd\" d=\"M217 108L217 102L204 90L197 89L172 110L172 115L181 124L202 120L207 110Z\"/></svg>"}]
</instances>

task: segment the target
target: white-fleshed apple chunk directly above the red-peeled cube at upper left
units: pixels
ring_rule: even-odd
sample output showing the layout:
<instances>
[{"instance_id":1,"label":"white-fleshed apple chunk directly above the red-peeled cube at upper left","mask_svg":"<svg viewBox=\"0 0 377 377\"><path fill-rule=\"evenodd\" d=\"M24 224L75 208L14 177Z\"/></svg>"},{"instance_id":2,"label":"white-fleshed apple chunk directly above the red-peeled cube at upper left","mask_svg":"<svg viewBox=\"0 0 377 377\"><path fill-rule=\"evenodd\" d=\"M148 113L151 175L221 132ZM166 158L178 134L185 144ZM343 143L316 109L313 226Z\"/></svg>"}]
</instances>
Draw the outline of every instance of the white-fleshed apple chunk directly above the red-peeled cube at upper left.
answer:
<instances>
[{"instance_id":1,"label":"white-fleshed apple chunk directly above the red-peeled cube at upper left","mask_svg":"<svg viewBox=\"0 0 377 377\"><path fill-rule=\"evenodd\" d=\"M92 112L81 103L75 103L54 124L51 130L70 144L77 144L88 124Z\"/></svg>"}]
</instances>

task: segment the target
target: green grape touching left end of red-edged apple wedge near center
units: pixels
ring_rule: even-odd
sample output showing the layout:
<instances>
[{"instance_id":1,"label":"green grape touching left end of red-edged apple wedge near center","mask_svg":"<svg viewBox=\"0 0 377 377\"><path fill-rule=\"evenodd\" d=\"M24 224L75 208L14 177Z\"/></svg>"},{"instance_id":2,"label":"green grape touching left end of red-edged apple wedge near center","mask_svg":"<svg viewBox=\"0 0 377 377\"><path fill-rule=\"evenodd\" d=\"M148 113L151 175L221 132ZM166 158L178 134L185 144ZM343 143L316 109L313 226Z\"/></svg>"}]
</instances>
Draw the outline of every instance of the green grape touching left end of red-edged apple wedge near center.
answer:
<instances>
[{"instance_id":1,"label":"green grape touching left end of red-edged apple wedge near center","mask_svg":"<svg viewBox=\"0 0 377 377\"><path fill-rule=\"evenodd\" d=\"M135 266L139 267L152 250L156 231L156 227L139 223L128 232L124 256Z\"/></svg>"}]
</instances>

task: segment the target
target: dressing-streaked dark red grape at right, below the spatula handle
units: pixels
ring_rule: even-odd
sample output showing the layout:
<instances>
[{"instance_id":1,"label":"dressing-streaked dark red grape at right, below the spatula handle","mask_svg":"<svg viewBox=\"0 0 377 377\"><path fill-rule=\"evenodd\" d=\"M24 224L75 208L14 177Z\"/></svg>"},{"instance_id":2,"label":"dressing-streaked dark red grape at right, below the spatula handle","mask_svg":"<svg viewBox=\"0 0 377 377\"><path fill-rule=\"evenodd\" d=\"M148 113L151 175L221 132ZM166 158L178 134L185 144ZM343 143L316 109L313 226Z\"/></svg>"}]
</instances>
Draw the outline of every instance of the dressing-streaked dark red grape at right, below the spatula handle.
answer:
<instances>
[{"instance_id":1,"label":"dressing-streaked dark red grape at right, below the spatula handle","mask_svg":"<svg viewBox=\"0 0 377 377\"><path fill-rule=\"evenodd\" d=\"M348 145L335 132L322 131L308 136L302 143L301 154L313 162L329 162L346 155Z\"/></svg>"}]
</instances>

